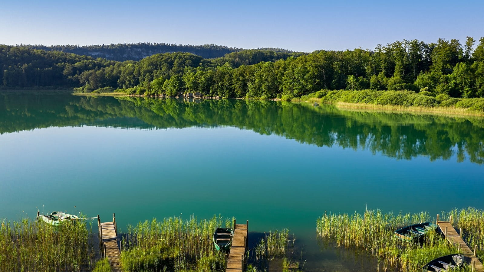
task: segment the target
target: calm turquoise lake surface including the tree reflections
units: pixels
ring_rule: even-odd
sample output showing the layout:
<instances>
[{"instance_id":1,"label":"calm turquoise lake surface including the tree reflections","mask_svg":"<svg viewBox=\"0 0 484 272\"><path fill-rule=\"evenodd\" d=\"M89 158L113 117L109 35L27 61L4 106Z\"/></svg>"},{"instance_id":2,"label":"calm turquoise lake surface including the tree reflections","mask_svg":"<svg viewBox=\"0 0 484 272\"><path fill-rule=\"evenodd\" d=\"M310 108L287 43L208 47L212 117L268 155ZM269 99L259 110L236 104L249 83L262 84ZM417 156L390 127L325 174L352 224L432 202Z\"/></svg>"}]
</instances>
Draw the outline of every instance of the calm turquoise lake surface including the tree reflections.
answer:
<instances>
[{"instance_id":1,"label":"calm turquoise lake surface including the tree reflections","mask_svg":"<svg viewBox=\"0 0 484 272\"><path fill-rule=\"evenodd\" d=\"M334 260L315 241L325 211L483 209L483 141L472 117L2 92L0 218L116 213L125 230L235 216L251 231L291 229L311 270L315 256ZM354 270L342 263L319 271Z\"/></svg>"}]
</instances>

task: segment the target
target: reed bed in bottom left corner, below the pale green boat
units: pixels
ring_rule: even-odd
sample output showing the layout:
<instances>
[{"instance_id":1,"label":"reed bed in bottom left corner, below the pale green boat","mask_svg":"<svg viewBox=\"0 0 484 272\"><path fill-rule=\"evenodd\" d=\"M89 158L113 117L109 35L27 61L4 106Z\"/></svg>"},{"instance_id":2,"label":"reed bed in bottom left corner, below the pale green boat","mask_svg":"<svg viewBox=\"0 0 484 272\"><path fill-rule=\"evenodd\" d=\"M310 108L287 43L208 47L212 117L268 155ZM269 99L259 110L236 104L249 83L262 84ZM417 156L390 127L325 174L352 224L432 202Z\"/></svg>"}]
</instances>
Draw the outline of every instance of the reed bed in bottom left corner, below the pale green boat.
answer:
<instances>
[{"instance_id":1,"label":"reed bed in bottom left corner, below the pale green boat","mask_svg":"<svg viewBox=\"0 0 484 272\"><path fill-rule=\"evenodd\" d=\"M91 237L91 230L79 222L52 229L34 219L3 221L0 225L0 270L91 270L95 257Z\"/></svg>"}]
</instances>

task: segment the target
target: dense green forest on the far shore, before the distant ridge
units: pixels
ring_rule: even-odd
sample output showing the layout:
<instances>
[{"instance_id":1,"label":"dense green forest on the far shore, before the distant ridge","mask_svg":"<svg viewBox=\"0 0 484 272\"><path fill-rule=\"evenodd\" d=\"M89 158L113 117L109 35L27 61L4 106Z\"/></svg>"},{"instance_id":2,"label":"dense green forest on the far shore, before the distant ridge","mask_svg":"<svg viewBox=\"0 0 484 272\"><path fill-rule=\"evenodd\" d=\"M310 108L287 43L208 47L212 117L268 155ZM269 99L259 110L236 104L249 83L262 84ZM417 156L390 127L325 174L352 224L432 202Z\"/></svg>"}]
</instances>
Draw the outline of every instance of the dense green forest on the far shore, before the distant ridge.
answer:
<instances>
[{"instance_id":1,"label":"dense green forest on the far shore, before the distant ridge","mask_svg":"<svg viewBox=\"0 0 484 272\"><path fill-rule=\"evenodd\" d=\"M124 62L2 45L0 67L3 88L67 86L84 92L265 99L343 89L408 90L427 97L443 94L446 100L484 97L484 38L476 44L470 37L464 45L403 40L374 50L244 50L215 59L178 52Z\"/></svg>"}]
</instances>

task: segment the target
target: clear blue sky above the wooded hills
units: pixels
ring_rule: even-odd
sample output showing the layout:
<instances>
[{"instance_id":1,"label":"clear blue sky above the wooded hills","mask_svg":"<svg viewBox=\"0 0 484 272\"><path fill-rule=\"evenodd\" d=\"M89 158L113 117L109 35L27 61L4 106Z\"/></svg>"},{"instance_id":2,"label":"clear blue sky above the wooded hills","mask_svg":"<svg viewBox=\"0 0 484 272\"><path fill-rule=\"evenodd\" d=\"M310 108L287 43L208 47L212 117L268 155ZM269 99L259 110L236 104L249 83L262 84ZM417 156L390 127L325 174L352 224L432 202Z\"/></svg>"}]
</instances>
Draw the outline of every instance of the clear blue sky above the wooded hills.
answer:
<instances>
[{"instance_id":1,"label":"clear blue sky above the wooded hills","mask_svg":"<svg viewBox=\"0 0 484 272\"><path fill-rule=\"evenodd\" d=\"M482 0L0 3L0 44L214 43L311 52L484 36Z\"/></svg>"}]
</instances>

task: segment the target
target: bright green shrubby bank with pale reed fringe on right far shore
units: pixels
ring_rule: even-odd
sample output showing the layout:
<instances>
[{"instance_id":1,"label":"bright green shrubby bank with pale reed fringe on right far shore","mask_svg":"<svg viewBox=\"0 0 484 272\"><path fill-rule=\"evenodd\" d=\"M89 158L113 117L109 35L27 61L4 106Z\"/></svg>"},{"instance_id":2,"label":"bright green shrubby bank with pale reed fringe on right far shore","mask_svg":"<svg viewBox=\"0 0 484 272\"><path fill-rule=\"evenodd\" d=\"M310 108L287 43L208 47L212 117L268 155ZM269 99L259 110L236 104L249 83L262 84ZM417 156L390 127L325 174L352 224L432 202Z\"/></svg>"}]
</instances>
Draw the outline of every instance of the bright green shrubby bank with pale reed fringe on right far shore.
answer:
<instances>
[{"instance_id":1,"label":"bright green shrubby bank with pale reed fringe on right far shore","mask_svg":"<svg viewBox=\"0 0 484 272\"><path fill-rule=\"evenodd\" d=\"M392 111L484 115L484 98L433 96L422 91L320 90L297 100L339 104L342 107Z\"/></svg>"}]
</instances>

